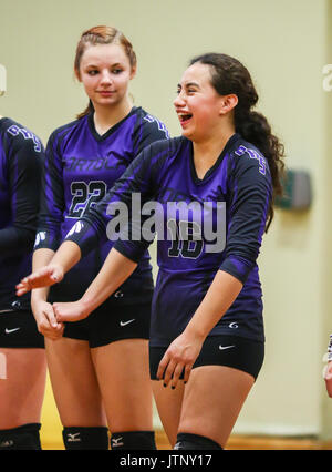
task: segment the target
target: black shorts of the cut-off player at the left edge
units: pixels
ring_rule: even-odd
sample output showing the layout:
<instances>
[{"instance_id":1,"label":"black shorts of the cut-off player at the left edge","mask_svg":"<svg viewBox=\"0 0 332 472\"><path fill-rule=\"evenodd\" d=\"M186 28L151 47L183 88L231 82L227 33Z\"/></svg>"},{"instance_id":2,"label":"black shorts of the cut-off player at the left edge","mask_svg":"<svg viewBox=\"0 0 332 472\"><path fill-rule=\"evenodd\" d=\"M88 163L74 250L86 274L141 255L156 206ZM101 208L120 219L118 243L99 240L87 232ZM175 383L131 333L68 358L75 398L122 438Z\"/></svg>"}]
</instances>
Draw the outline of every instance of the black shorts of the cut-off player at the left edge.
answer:
<instances>
[{"instance_id":1,"label":"black shorts of the cut-off player at the left edge","mask_svg":"<svg viewBox=\"0 0 332 472\"><path fill-rule=\"evenodd\" d=\"M32 311L0 312L0 348L44 348Z\"/></svg>"}]
</instances>

